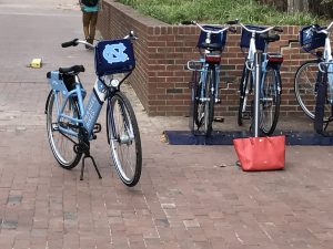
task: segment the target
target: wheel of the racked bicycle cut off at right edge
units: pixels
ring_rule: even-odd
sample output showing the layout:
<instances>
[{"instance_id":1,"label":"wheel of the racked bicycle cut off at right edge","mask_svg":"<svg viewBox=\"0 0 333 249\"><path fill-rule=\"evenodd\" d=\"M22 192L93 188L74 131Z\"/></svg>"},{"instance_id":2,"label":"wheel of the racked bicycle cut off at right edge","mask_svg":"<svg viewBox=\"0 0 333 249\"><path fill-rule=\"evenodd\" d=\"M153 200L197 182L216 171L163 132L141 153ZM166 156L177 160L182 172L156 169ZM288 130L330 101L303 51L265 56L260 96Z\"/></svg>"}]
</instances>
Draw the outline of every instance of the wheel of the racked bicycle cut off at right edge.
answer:
<instances>
[{"instance_id":1,"label":"wheel of the racked bicycle cut off at right edge","mask_svg":"<svg viewBox=\"0 0 333 249\"><path fill-rule=\"evenodd\" d=\"M319 61L307 61L303 63L296 71L294 77L294 93L299 105L304 114L314 120L315 116L315 103L316 103L316 90L317 90L317 76L319 76ZM327 113L327 115L325 115ZM324 122L330 120L331 105L324 106Z\"/></svg>"}]
</instances>

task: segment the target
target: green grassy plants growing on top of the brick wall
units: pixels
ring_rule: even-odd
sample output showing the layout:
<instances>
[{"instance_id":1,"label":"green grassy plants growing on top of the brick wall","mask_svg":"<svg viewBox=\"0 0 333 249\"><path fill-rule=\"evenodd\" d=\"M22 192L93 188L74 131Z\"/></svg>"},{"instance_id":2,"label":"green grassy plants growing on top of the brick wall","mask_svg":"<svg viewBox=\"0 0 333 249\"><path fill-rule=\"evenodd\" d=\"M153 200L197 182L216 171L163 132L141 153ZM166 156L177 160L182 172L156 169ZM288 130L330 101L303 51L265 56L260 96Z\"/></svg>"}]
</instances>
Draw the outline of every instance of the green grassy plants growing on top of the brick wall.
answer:
<instances>
[{"instance_id":1,"label":"green grassy plants growing on top of the brick wall","mask_svg":"<svg viewBox=\"0 0 333 249\"><path fill-rule=\"evenodd\" d=\"M117 0L143 14L175 24L183 20L224 23L239 19L256 24L309 24L320 22L309 13L287 14L255 0ZM332 1L332 0L324 0Z\"/></svg>"}]
</instances>

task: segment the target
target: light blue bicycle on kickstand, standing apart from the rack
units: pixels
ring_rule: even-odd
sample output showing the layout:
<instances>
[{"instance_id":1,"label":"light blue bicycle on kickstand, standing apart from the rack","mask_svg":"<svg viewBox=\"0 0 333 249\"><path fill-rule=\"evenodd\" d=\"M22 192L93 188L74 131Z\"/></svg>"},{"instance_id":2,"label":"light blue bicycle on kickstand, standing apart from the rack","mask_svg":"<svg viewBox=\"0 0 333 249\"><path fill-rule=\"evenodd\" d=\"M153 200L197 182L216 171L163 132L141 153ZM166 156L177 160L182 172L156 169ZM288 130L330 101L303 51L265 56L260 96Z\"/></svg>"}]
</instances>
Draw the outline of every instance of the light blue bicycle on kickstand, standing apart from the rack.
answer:
<instances>
[{"instance_id":1,"label":"light blue bicycle on kickstand, standing apart from the rack","mask_svg":"<svg viewBox=\"0 0 333 249\"><path fill-rule=\"evenodd\" d=\"M105 40L95 46L74 39L62 43L63 48L84 44L94 49L97 80L87 104L87 95L79 73L83 65L60 68L48 72L51 86L46 103L47 131L52 153L65 169L78 165L82 155L80 179L83 179L84 159L91 158L90 141L97 138L101 125L97 123L107 101L107 136L111 157L121 180L129 187L138 184L142 168L141 139L137 118L127 96L120 91L121 83L135 68L133 32L121 40Z\"/></svg>"}]
</instances>

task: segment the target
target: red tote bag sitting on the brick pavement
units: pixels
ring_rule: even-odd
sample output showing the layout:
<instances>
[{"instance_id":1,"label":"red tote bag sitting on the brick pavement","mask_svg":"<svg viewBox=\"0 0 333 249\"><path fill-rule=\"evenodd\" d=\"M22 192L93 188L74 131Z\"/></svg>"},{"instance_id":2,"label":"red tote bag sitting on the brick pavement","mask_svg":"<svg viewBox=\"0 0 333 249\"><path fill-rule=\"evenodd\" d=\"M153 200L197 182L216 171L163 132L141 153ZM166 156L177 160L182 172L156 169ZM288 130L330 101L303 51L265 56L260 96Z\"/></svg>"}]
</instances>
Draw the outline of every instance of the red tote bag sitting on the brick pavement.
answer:
<instances>
[{"instance_id":1,"label":"red tote bag sitting on the brick pavement","mask_svg":"<svg viewBox=\"0 0 333 249\"><path fill-rule=\"evenodd\" d=\"M235 138L233 145L244 172L284 168L285 136Z\"/></svg>"}]
</instances>

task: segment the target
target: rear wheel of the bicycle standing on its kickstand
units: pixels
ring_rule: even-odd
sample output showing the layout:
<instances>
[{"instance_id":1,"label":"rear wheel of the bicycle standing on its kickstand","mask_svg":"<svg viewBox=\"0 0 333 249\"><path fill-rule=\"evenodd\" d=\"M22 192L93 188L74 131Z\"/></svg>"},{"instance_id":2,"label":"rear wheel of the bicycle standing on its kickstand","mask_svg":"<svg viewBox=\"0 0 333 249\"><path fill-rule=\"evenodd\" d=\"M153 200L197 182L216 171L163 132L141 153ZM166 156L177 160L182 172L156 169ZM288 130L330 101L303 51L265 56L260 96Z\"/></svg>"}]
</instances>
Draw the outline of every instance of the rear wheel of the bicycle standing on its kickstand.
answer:
<instances>
[{"instance_id":1,"label":"rear wheel of the bicycle standing on its kickstand","mask_svg":"<svg viewBox=\"0 0 333 249\"><path fill-rule=\"evenodd\" d=\"M59 106L62 106L62 94L58 94ZM54 105L56 93L53 91L50 92L47 103L47 132L48 139L52 151L52 154L59 165L65 169L74 168L81 159L82 153L74 152L74 143L78 143L78 138L70 135L64 135L60 133L59 123L57 121L57 106ZM80 118L80 112L78 103L74 98L69 98L65 104L63 112L72 117ZM70 123L65 123L69 121L63 120L63 126L69 125ZM60 120L61 122L61 120ZM74 124L78 125L78 124ZM73 129L73 127L71 127ZM77 131L78 132L78 131ZM74 143L73 143L74 142Z\"/></svg>"}]
</instances>

